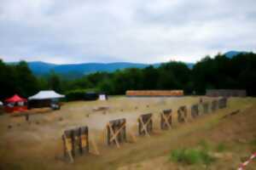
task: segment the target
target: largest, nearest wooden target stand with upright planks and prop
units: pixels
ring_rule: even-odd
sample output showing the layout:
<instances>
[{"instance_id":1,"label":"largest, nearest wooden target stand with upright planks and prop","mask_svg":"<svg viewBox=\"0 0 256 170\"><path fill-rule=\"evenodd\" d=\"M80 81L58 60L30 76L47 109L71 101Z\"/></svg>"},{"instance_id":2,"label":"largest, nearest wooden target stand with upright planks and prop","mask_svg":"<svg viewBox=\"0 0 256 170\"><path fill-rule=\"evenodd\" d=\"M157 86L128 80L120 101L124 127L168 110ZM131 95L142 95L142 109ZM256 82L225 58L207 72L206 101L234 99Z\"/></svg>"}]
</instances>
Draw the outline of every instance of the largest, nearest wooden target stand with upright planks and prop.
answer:
<instances>
[{"instance_id":1,"label":"largest, nearest wooden target stand with upright planks and prop","mask_svg":"<svg viewBox=\"0 0 256 170\"><path fill-rule=\"evenodd\" d=\"M73 163L74 157L78 155L89 154L89 142L91 142L95 154L99 155L95 140L89 140L89 128L79 127L65 130L62 135L64 157L68 158Z\"/></svg>"}]
</instances>

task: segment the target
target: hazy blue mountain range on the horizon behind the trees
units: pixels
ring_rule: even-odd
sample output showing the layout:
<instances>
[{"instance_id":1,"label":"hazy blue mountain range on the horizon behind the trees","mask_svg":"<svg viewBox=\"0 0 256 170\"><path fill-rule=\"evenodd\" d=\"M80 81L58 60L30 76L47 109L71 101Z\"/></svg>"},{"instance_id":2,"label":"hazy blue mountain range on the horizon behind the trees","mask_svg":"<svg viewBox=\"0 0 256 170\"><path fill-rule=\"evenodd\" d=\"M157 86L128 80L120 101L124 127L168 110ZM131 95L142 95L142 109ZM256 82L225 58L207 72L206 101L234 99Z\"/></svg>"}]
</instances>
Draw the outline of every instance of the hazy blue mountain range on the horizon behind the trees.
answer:
<instances>
[{"instance_id":1,"label":"hazy blue mountain range on the horizon behind the trees","mask_svg":"<svg viewBox=\"0 0 256 170\"><path fill-rule=\"evenodd\" d=\"M237 54L247 53L240 51L229 51L225 53L228 58L232 58ZM84 75L88 75L90 73L94 73L97 71L107 71L113 72L116 70L123 70L126 68L145 68L149 64L141 64L141 63L129 63L129 62L116 62L116 63L83 63L83 64L67 64L67 65L56 65L51 63L46 63L42 61L32 61L27 62L29 68L32 72L37 76L43 76L48 74L50 71L55 71L60 75L65 77L82 77ZM189 68L192 68L194 63L186 63ZM152 64L154 67L158 67L160 64Z\"/></svg>"}]
</instances>

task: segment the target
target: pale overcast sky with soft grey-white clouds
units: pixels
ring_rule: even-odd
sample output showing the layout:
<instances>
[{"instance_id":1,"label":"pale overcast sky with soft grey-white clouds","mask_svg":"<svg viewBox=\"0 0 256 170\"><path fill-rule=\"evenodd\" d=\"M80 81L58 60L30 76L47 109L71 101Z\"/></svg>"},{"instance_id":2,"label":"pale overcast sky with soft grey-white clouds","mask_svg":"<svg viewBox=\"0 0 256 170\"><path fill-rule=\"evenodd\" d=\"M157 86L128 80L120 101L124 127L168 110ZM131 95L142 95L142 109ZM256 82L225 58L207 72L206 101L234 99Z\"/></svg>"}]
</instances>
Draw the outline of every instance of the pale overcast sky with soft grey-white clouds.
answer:
<instances>
[{"instance_id":1,"label":"pale overcast sky with soft grey-white clouds","mask_svg":"<svg viewBox=\"0 0 256 170\"><path fill-rule=\"evenodd\" d=\"M0 0L0 58L194 62L256 52L255 0Z\"/></svg>"}]
</instances>

